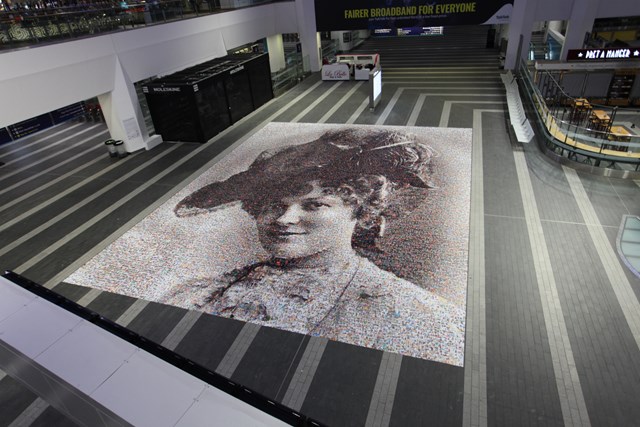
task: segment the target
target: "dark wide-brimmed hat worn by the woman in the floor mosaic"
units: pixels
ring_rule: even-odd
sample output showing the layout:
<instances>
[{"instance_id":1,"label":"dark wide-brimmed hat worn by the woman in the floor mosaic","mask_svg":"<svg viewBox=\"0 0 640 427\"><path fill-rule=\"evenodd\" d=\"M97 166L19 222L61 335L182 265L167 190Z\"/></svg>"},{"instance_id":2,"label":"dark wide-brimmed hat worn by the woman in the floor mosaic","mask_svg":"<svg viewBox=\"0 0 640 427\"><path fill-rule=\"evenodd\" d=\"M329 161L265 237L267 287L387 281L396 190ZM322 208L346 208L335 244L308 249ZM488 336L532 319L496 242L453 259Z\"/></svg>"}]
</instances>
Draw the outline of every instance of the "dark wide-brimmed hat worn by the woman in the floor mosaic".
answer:
<instances>
[{"instance_id":1,"label":"dark wide-brimmed hat worn by the woman in the floor mosaic","mask_svg":"<svg viewBox=\"0 0 640 427\"><path fill-rule=\"evenodd\" d=\"M396 130L331 130L305 144L261 153L246 171L182 199L175 213L193 216L232 202L287 194L303 183L327 185L365 175L382 175L396 187L429 188L432 155L414 135Z\"/></svg>"}]
</instances>

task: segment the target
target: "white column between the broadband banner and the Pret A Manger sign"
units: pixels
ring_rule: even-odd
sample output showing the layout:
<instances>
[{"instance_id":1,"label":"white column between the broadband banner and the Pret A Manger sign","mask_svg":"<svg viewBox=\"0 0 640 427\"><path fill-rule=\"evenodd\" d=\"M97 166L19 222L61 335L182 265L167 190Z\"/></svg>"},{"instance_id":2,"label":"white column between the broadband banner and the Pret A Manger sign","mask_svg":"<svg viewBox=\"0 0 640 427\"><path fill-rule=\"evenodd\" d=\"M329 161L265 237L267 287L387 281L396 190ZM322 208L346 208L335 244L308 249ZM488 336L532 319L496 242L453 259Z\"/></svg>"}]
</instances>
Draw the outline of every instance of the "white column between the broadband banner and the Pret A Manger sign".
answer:
<instances>
[{"instance_id":1,"label":"white column between the broadband banner and the Pret A Manger sign","mask_svg":"<svg viewBox=\"0 0 640 427\"><path fill-rule=\"evenodd\" d=\"M536 0L515 0L509 21L509 39L504 63L505 70L513 70L516 66L518 45L522 36L521 58L526 59L531 41L531 28L536 12Z\"/></svg>"}]
</instances>

